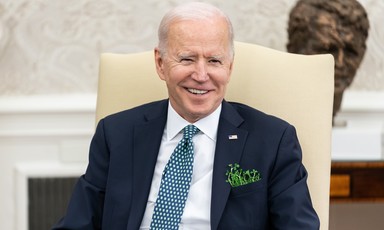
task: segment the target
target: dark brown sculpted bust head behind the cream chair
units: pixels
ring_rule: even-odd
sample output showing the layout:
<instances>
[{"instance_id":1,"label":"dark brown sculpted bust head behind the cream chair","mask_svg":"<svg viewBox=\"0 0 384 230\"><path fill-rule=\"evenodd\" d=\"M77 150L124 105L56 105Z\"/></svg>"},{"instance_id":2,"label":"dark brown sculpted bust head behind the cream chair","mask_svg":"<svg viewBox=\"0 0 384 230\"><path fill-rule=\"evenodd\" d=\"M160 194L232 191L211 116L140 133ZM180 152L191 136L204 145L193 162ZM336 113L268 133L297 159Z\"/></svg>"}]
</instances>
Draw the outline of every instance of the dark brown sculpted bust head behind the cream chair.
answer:
<instances>
[{"instance_id":1,"label":"dark brown sculpted bust head behind the cream chair","mask_svg":"<svg viewBox=\"0 0 384 230\"><path fill-rule=\"evenodd\" d=\"M335 58L333 116L364 57L369 21L356 0L299 0L291 10L287 50Z\"/></svg>"}]
</instances>

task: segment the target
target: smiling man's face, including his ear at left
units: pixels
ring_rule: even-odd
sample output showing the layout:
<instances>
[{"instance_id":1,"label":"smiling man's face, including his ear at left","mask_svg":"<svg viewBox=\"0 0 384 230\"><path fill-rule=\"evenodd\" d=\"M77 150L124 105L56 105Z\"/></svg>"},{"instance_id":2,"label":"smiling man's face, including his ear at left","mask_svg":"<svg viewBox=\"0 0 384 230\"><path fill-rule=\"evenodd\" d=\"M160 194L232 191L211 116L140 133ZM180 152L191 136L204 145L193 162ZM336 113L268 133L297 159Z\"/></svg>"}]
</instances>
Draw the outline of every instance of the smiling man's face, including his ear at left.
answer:
<instances>
[{"instance_id":1,"label":"smiling man's face, including his ear at left","mask_svg":"<svg viewBox=\"0 0 384 230\"><path fill-rule=\"evenodd\" d=\"M166 53L155 49L156 69L175 111L193 123L222 102L232 71L226 21L175 21Z\"/></svg>"}]
</instances>

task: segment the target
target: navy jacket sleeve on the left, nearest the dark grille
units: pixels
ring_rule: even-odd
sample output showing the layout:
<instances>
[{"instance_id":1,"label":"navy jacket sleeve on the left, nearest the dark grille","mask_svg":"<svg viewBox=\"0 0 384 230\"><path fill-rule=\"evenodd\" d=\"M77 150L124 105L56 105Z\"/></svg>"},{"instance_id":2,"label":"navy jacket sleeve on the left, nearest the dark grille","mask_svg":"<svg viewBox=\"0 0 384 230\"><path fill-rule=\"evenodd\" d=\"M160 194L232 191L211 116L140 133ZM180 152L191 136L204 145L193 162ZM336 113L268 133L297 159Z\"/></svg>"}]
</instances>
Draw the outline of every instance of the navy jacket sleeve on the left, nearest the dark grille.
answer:
<instances>
[{"instance_id":1,"label":"navy jacket sleeve on the left, nearest the dark grille","mask_svg":"<svg viewBox=\"0 0 384 230\"><path fill-rule=\"evenodd\" d=\"M101 229L109 150L103 120L91 141L87 171L75 185L67 211L52 230Z\"/></svg>"}]
</instances>

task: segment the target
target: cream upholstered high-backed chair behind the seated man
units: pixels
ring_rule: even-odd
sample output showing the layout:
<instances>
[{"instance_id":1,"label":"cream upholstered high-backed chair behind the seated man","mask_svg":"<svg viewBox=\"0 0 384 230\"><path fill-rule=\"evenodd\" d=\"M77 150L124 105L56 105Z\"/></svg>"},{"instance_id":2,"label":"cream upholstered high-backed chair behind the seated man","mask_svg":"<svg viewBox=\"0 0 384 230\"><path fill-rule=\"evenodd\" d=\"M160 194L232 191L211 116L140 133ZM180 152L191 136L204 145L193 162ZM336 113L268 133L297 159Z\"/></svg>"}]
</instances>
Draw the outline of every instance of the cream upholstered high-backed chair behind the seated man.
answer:
<instances>
[{"instance_id":1,"label":"cream upholstered high-backed chair behind the seated man","mask_svg":"<svg viewBox=\"0 0 384 230\"><path fill-rule=\"evenodd\" d=\"M308 170L308 184L321 229L328 229L334 61L235 43L226 100L238 101L293 124ZM102 54L96 120L145 102L167 98L153 51Z\"/></svg>"}]
</instances>

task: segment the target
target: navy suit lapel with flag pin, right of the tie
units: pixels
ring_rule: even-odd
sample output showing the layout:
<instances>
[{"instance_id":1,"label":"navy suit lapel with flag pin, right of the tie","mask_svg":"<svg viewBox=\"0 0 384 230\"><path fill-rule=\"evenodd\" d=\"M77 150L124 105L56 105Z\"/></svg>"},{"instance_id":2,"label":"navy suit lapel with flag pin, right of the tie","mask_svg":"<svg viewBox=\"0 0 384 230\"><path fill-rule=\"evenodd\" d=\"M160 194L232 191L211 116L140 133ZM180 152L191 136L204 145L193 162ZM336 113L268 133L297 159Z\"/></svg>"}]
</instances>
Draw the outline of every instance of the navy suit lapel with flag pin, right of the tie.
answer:
<instances>
[{"instance_id":1,"label":"navy suit lapel with flag pin, right of the tie","mask_svg":"<svg viewBox=\"0 0 384 230\"><path fill-rule=\"evenodd\" d=\"M228 165L239 163L248 132L238 128L243 118L227 102L223 102L218 127L213 166L211 229L217 229L231 190L226 182ZM234 136L236 135L236 136ZM231 137L230 137L231 136Z\"/></svg>"}]
</instances>

